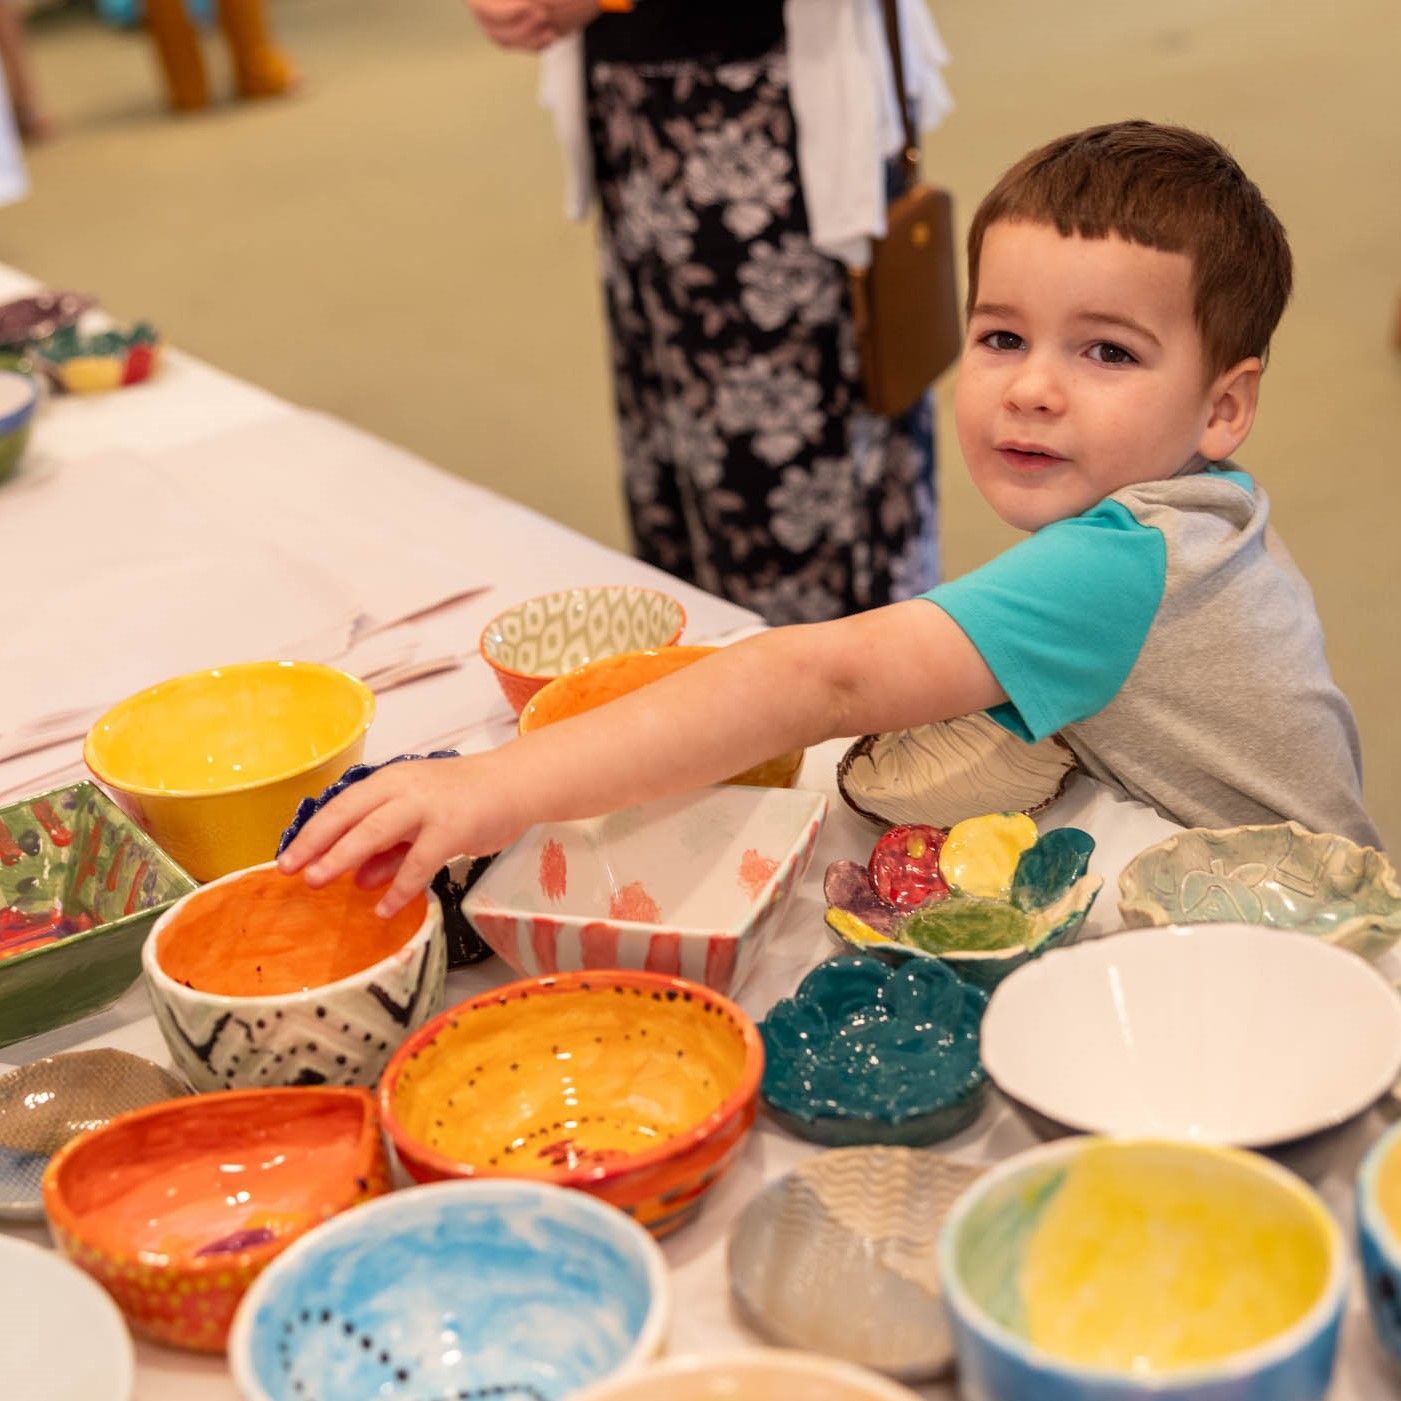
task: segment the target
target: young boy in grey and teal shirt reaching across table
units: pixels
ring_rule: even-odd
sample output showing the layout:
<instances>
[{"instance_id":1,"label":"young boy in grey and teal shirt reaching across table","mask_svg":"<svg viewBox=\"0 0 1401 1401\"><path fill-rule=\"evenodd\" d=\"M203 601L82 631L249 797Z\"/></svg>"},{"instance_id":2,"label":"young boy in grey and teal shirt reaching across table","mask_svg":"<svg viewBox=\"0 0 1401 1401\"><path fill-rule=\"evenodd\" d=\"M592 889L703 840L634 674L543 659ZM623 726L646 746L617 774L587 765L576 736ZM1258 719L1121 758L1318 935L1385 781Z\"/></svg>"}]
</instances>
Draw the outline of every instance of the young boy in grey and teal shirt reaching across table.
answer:
<instances>
[{"instance_id":1,"label":"young boy in grey and teal shirt reaching across table","mask_svg":"<svg viewBox=\"0 0 1401 1401\"><path fill-rule=\"evenodd\" d=\"M1215 142L1124 122L1027 156L968 234L958 437L1031 535L920 598L780 628L486 754L401 764L282 857L392 878L712 783L799 745L991 710L1185 825L1374 845L1313 598L1227 460L1290 289L1283 228Z\"/></svg>"}]
</instances>

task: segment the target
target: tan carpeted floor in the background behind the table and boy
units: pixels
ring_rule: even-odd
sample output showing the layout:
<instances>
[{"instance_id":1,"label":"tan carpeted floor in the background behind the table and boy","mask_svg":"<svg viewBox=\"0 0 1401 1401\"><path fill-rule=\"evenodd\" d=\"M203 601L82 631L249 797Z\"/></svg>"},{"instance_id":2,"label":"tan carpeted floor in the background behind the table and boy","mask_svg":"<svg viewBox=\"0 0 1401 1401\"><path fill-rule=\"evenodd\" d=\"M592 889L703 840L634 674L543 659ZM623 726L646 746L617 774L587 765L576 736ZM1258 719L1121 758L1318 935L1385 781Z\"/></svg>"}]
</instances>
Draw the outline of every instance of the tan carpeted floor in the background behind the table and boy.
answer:
<instances>
[{"instance_id":1,"label":"tan carpeted floor in the background behind the table and boy","mask_svg":"<svg viewBox=\"0 0 1401 1401\"><path fill-rule=\"evenodd\" d=\"M699 3L699 0L698 0ZM181 346L622 544L587 228L530 59L458 0L272 0L291 99L171 118L140 34L41 13L62 123L0 259L149 317ZM1224 140L1289 228L1297 294L1243 464L1313 581L1401 843L1401 25L1394 0L948 0L958 109L927 143L964 219L1062 130L1122 116ZM219 85L227 60L210 36ZM941 423L950 572L1010 539Z\"/></svg>"}]
</instances>

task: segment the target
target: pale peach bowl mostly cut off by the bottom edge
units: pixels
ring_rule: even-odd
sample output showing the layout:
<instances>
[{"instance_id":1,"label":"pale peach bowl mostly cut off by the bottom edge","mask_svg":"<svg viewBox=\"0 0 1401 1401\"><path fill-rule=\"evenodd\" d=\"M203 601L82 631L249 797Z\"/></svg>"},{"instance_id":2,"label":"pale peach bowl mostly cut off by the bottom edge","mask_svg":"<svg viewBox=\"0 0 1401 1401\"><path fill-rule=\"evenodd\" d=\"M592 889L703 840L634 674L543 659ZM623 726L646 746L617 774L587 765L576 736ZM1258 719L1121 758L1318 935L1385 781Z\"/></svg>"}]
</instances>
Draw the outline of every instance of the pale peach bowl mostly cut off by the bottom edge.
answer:
<instances>
[{"instance_id":1,"label":"pale peach bowl mostly cut off by the bottom edge","mask_svg":"<svg viewBox=\"0 0 1401 1401\"><path fill-rule=\"evenodd\" d=\"M667 1358L572 1401L915 1401L915 1393L863 1367L807 1352L752 1348Z\"/></svg>"}]
</instances>

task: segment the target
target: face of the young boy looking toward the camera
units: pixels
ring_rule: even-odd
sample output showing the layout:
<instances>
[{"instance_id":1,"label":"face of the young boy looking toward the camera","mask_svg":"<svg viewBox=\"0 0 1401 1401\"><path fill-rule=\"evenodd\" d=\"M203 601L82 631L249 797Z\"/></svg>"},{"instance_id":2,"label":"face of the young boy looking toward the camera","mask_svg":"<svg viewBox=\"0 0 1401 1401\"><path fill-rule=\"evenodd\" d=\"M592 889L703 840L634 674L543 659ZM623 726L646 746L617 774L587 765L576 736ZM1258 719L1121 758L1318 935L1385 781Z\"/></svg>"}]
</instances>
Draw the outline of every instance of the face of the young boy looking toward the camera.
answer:
<instances>
[{"instance_id":1,"label":"face of the young boy looking toward the camera","mask_svg":"<svg viewBox=\"0 0 1401 1401\"><path fill-rule=\"evenodd\" d=\"M1215 387L1192 263L1122 238L999 221L982 245L958 373L958 440L1019 530L1173 476L1206 443Z\"/></svg>"}]
</instances>

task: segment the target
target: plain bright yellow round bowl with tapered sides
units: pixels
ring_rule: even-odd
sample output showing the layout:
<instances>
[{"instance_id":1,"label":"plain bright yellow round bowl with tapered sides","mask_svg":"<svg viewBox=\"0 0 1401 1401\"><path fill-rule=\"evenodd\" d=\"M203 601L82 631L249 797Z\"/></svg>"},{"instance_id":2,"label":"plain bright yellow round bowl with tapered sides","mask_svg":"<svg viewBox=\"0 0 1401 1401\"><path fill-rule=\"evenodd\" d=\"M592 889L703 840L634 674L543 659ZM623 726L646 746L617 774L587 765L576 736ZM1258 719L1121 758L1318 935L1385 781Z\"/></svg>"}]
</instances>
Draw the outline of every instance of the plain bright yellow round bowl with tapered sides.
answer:
<instances>
[{"instance_id":1,"label":"plain bright yellow round bowl with tapered sides","mask_svg":"<svg viewBox=\"0 0 1401 1401\"><path fill-rule=\"evenodd\" d=\"M368 686L333 667L245 661L127 696L83 757L203 881L272 860L301 799L360 758L373 716Z\"/></svg>"}]
</instances>

